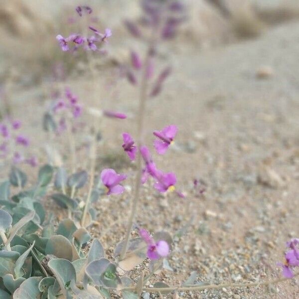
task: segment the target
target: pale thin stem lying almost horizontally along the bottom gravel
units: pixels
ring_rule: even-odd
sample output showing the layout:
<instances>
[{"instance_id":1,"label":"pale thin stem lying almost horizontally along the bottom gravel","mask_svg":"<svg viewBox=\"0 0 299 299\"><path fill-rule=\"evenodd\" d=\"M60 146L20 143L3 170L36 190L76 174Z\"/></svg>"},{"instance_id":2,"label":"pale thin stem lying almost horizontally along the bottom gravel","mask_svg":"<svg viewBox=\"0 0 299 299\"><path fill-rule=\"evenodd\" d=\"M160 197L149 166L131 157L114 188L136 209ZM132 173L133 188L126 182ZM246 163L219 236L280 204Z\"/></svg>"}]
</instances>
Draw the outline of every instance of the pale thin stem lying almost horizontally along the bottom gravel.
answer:
<instances>
[{"instance_id":1,"label":"pale thin stem lying almost horizontally along the bottom gravel","mask_svg":"<svg viewBox=\"0 0 299 299\"><path fill-rule=\"evenodd\" d=\"M294 278L299 276L299 272L295 273ZM143 288L143 291L145 292L173 292L173 291L203 291L203 290L217 290L222 288L252 288L252 287L260 287L260 286L269 286L269 285L275 285L278 283L285 282L287 280L290 280L290 278L277 278L274 280L268 280L264 282L256 282L256 283L248 283L248 284L220 284L220 285L206 285L206 286L191 286L191 287L179 287L179 286L170 286L168 288ZM126 287L123 290L135 290L136 287Z\"/></svg>"}]
</instances>

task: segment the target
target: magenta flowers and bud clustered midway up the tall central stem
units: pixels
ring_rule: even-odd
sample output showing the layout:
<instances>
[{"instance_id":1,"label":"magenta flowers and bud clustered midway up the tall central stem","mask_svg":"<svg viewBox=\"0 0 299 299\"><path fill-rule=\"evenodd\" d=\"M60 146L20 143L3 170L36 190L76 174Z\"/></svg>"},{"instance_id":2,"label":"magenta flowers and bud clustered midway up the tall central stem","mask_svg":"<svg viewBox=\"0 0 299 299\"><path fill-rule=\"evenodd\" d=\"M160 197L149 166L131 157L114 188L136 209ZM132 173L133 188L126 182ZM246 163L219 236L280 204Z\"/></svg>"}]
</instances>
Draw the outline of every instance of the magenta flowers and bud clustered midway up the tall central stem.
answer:
<instances>
[{"instance_id":1,"label":"magenta flowers and bud clustered midway up the tall central stem","mask_svg":"<svg viewBox=\"0 0 299 299\"><path fill-rule=\"evenodd\" d=\"M167 126L161 131L154 131L153 135L157 138L154 141L154 147L159 154L164 154L169 146L173 143L173 140L177 133L177 127L175 125ZM135 160L137 146L129 133L123 133L123 149L128 154L131 160ZM142 183L145 183L149 177L152 177L155 181L154 188L161 192L171 192L175 190L176 176L172 172L164 173L159 170L154 161L152 160L149 149L146 146L140 147L140 153L145 162L143 169ZM184 197L181 192L176 191L180 197Z\"/></svg>"}]
</instances>

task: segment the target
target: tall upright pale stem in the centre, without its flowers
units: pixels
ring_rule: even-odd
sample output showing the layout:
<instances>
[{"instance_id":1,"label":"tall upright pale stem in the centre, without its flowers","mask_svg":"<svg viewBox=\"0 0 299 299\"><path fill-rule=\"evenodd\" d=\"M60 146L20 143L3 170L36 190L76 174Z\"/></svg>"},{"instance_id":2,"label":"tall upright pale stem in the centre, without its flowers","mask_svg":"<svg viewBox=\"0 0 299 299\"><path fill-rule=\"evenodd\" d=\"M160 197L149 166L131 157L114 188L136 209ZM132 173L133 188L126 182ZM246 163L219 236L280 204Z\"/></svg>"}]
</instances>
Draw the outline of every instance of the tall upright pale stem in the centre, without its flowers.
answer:
<instances>
[{"instance_id":1,"label":"tall upright pale stem in the centre, without its flowers","mask_svg":"<svg viewBox=\"0 0 299 299\"><path fill-rule=\"evenodd\" d=\"M144 140L144 119L145 119L145 112L146 112L146 101L147 101L147 87L148 87L148 79L147 79L147 69L149 67L149 58L150 58L150 49L151 45L149 46L143 74L141 78L141 85L140 85L140 99L139 99L139 109L138 109L138 123L137 123L137 146L140 148L143 145ZM129 218L128 228L127 228L127 234L125 238L125 245L123 247L123 250L121 252L120 259L123 260L126 257L126 253L128 251L129 247L129 240L130 235L133 229L133 224L138 208L138 199L140 197L140 186L141 186L141 178L142 178L142 156L140 152L137 153L137 170L136 170L136 181L135 181L135 193L131 204L131 215Z\"/></svg>"}]
</instances>

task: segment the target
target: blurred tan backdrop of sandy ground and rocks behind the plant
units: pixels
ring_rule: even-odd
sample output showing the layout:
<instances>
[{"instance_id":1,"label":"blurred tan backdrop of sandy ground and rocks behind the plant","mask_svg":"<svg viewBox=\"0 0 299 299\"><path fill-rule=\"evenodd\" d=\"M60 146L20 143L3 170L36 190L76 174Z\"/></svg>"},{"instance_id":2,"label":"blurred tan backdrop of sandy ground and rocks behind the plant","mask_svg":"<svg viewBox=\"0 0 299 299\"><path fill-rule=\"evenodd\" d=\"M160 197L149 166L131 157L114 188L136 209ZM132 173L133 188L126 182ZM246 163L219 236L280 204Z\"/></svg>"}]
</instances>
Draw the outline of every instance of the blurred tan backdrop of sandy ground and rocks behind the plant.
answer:
<instances>
[{"instance_id":1,"label":"blurred tan backdrop of sandy ground and rocks behind the plant","mask_svg":"<svg viewBox=\"0 0 299 299\"><path fill-rule=\"evenodd\" d=\"M209 282L278 276L276 262L282 260L285 242L299 237L299 1L182 2L186 19L157 55L157 64L171 65L173 73L159 97L149 101L146 123L149 146L152 130L178 126L177 146L156 161L165 171L176 172L187 200L155 200L147 191L146 214L137 221L152 231L174 231L186 223L192 227L192 234L173 251L178 281L193 270ZM62 52L55 39L80 30L74 19L79 4L94 9L95 27L113 32L107 55L93 55L96 84L86 56ZM122 132L134 136L138 91L119 76L119 68L129 63L131 49L144 51L124 26L124 19L138 20L139 4L1 0L1 111L8 103L14 117L23 121L41 160L49 141L41 134L41 119L55 70L61 67L63 84L84 106L128 114L122 123L105 121L100 154L106 166L120 171L132 167L120 145ZM120 238L128 200L119 210L113 201L100 207L111 213L111 223L120 220L113 226ZM152 221L156 211L162 216ZM110 220L106 222L109 227ZM111 236L104 239L115 243ZM202 298L297 298L298 287L286 283L269 297L259 288L219 292Z\"/></svg>"}]
</instances>

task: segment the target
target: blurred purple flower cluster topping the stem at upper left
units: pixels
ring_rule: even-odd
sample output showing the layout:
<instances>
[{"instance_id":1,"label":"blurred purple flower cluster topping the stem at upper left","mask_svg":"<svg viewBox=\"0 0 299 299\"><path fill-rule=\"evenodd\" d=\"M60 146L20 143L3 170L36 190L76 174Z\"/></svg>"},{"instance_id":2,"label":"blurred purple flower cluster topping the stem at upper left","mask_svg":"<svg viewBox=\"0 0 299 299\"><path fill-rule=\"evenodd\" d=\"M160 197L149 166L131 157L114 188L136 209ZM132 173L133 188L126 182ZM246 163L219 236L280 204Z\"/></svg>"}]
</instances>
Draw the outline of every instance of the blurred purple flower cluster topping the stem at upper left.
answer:
<instances>
[{"instance_id":1,"label":"blurred purple flower cluster topping the stem at upper left","mask_svg":"<svg viewBox=\"0 0 299 299\"><path fill-rule=\"evenodd\" d=\"M79 16L83 16L83 12L87 14L92 13L92 9L89 6L77 6L76 11ZM63 37L61 34L56 36L56 39L59 42L59 45L62 51L76 51L80 47L84 50L100 51L100 45L103 42L106 42L109 37L112 35L112 31L109 28L106 28L104 32L100 32L98 29L89 26L92 34L84 36L83 34L72 33L68 37Z\"/></svg>"}]
</instances>

